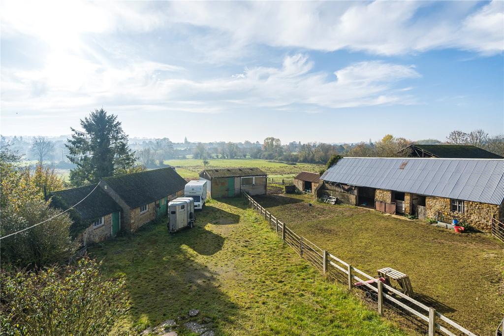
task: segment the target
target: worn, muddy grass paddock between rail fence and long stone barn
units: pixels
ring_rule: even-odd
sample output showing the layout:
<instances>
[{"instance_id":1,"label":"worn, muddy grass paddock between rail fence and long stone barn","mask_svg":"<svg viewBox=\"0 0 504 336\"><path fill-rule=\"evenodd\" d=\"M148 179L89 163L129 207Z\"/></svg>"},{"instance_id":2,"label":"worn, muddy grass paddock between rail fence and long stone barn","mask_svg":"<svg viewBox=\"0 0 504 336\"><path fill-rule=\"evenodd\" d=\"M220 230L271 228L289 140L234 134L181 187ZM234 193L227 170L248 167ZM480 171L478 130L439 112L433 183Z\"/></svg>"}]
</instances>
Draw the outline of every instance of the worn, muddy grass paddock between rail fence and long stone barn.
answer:
<instances>
[{"instance_id":1,"label":"worn, muddy grass paddock between rail fence and long stone barn","mask_svg":"<svg viewBox=\"0 0 504 336\"><path fill-rule=\"evenodd\" d=\"M307 202L307 195L256 197L299 236L376 275L408 274L417 299L477 334L504 317L504 245L486 234L456 234L374 210Z\"/></svg>"}]
</instances>

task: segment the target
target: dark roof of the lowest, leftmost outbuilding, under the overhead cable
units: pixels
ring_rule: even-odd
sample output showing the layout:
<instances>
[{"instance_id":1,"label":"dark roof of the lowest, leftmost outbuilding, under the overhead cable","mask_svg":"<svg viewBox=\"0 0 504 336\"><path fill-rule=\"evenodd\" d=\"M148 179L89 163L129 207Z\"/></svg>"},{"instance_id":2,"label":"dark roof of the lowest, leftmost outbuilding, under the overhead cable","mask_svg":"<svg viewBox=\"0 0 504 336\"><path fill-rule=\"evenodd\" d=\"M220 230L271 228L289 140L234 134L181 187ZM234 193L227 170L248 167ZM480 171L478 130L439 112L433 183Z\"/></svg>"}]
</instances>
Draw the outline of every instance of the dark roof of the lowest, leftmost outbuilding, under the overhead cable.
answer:
<instances>
[{"instance_id":1,"label":"dark roof of the lowest, leftmost outbuilding, under the overhead cable","mask_svg":"<svg viewBox=\"0 0 504 336\"><path fill-rule=\"evenodd\" d=\"M54 191L49 195L51 197L51 205L66 210L79 203L95 187L96 184L91 184L78 188ZM121 208L107 193L98 187L73 209L80 216L80 219L86 222L119 211Z\"/></svg>"}]
</instances>

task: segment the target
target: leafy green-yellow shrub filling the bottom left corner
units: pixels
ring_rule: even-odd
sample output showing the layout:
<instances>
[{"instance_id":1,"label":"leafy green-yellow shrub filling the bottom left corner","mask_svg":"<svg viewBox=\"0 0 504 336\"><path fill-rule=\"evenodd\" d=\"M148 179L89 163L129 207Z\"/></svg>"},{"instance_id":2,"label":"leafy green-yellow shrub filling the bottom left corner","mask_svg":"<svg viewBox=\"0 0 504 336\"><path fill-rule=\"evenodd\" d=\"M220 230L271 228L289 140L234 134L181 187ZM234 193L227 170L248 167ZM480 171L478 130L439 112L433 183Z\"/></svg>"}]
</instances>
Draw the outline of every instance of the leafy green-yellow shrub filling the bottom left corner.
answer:
<instances>
[{"instance_id":1,"label":"leafy green-yellow shrub filling the bottom left corner","mask_svg":"<svg viewBox=\"0 0 504 336\"><path fill-rule=\"evenodd\" d=\"M39 271L7 272L1 280L0 327L6 335L109 333L128 310L123 278L103 279L95 260Z\"/></svg>"}]
</instances>

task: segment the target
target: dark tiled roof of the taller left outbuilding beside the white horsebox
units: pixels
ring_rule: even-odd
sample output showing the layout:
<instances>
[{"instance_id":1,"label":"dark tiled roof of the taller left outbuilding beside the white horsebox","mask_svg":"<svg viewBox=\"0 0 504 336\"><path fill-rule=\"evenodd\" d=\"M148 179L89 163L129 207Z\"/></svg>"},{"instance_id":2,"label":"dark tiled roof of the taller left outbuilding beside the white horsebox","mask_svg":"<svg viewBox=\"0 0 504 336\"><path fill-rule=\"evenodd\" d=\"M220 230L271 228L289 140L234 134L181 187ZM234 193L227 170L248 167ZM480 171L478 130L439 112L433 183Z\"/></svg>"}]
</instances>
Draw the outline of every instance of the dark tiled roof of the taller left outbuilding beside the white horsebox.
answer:
<instances>
[{"instance_id":1,"label":"dark tiled roof of the taller left outbuilding beside the white horsebox","mask_svg":"<svg viewBox=\"0 0 504 336\"><path fill-rule=\"evenodd\" d=\"M171 167L103 179L130 208L154 202L184 189L187 183Z\"/></svg>"}]
</instances>

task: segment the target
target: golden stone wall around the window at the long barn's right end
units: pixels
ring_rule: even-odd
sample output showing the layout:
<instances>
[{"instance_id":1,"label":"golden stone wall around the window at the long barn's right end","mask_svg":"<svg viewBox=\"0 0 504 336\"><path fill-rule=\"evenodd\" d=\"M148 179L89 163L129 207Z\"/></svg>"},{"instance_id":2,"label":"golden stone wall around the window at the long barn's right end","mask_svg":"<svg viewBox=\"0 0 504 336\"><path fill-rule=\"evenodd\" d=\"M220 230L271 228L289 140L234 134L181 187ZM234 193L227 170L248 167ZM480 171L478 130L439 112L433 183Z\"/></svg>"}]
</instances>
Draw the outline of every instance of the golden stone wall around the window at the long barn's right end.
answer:
<instances>
[{"instance_id":1,"label":"golden stone wall around the window at the long barn's right end","mask_svg":"<svg viewBox=\"0 0 504 336\"><path fill-rule=\"evenodd\" d=\"M480 202L465 201L464 213L451 211L451 200L443 197L427 196L425 207L428 218L436 218L437 212L440 212L445 222L455 218L482 231L490 231L490 218L499 216L498 205Z\"/></svg>"}]
</instances>

